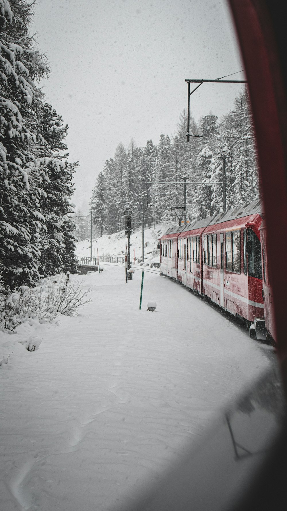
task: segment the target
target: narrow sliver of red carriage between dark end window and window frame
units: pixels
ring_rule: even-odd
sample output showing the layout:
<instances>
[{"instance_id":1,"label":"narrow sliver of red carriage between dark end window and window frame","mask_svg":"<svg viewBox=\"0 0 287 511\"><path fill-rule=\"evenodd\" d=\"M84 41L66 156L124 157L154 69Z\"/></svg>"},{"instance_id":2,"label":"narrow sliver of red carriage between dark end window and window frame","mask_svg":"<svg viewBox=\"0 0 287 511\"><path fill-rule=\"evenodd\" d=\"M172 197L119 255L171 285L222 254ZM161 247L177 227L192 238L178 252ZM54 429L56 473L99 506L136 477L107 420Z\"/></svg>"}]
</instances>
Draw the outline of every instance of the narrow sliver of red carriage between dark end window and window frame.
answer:
<instances>
[{"instance_id":1,"label":"narrow sliver of red carriage between dark end window and window frame","mask_svg":"<svg viewBox=\"0 0 287 511\"><path fill-rule=\"evenodd\" d=\"M270 341L276 340L275 333L275 320L274 320L274 311L273 311L273 293L270 283L270 272L268 268L268 258L267 258L267 230L266 230L266 222L265 220L259 227L260 231L260 240L261 240L261 254L262 254L262 297L264 300L264 318L265 318L265 326L266 326L266 337L269 338ZM265 332L263 331L263 335Z\"/></svg>"}]
</instances>

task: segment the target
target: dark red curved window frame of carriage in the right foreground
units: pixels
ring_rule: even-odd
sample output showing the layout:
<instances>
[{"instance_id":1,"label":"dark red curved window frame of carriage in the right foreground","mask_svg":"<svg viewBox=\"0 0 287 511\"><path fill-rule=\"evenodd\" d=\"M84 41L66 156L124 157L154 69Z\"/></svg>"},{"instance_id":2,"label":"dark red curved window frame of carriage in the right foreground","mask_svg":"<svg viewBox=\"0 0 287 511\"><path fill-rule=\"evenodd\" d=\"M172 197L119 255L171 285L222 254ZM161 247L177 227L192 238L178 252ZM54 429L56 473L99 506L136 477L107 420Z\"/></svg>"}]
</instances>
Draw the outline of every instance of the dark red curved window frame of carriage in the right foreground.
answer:
<instances>
[{"instance_id":1,"label":"dark red curved window frame of carriage in the right foreground","mask_svg":"<svg viewBox=\"0 0 287 511\"><path fill-rule=\"evenodd\" d=\"M278 356L287 382L287 109L285 27L279 2L229 0L248 81L268 233Z\"/></svg>"}]
</instances>

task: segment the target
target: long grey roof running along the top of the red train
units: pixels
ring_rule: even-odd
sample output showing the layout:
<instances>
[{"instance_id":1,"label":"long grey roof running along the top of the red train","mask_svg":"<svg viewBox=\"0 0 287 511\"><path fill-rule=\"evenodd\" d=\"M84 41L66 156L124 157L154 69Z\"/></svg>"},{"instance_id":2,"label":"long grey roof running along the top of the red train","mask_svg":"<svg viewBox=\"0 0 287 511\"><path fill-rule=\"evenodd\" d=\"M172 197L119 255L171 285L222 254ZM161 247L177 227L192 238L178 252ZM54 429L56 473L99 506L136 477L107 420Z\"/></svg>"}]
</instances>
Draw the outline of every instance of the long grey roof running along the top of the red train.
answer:
<instances>
[{"instance_id":1,"label":"long grey roof running along the top of the red train","mask_svg":"<svg viewBox=\"0 0 287 511\"><path fill-rule=\"evenodd\" d=\"M203 218L201 220L194 220L187 225L176 226L173 225L162 235L167 236L171 234L179 235L190 230L202 229L208 225L214 225L217 223L228 222L228 220L236 220L237 218L248 217L250 215L260 215L264 217L263 201L261 199L253 200L248 204L242 204L240 206L233 207L232 210L218 213L213 217Z\"/></svg>"}]
</instances>

